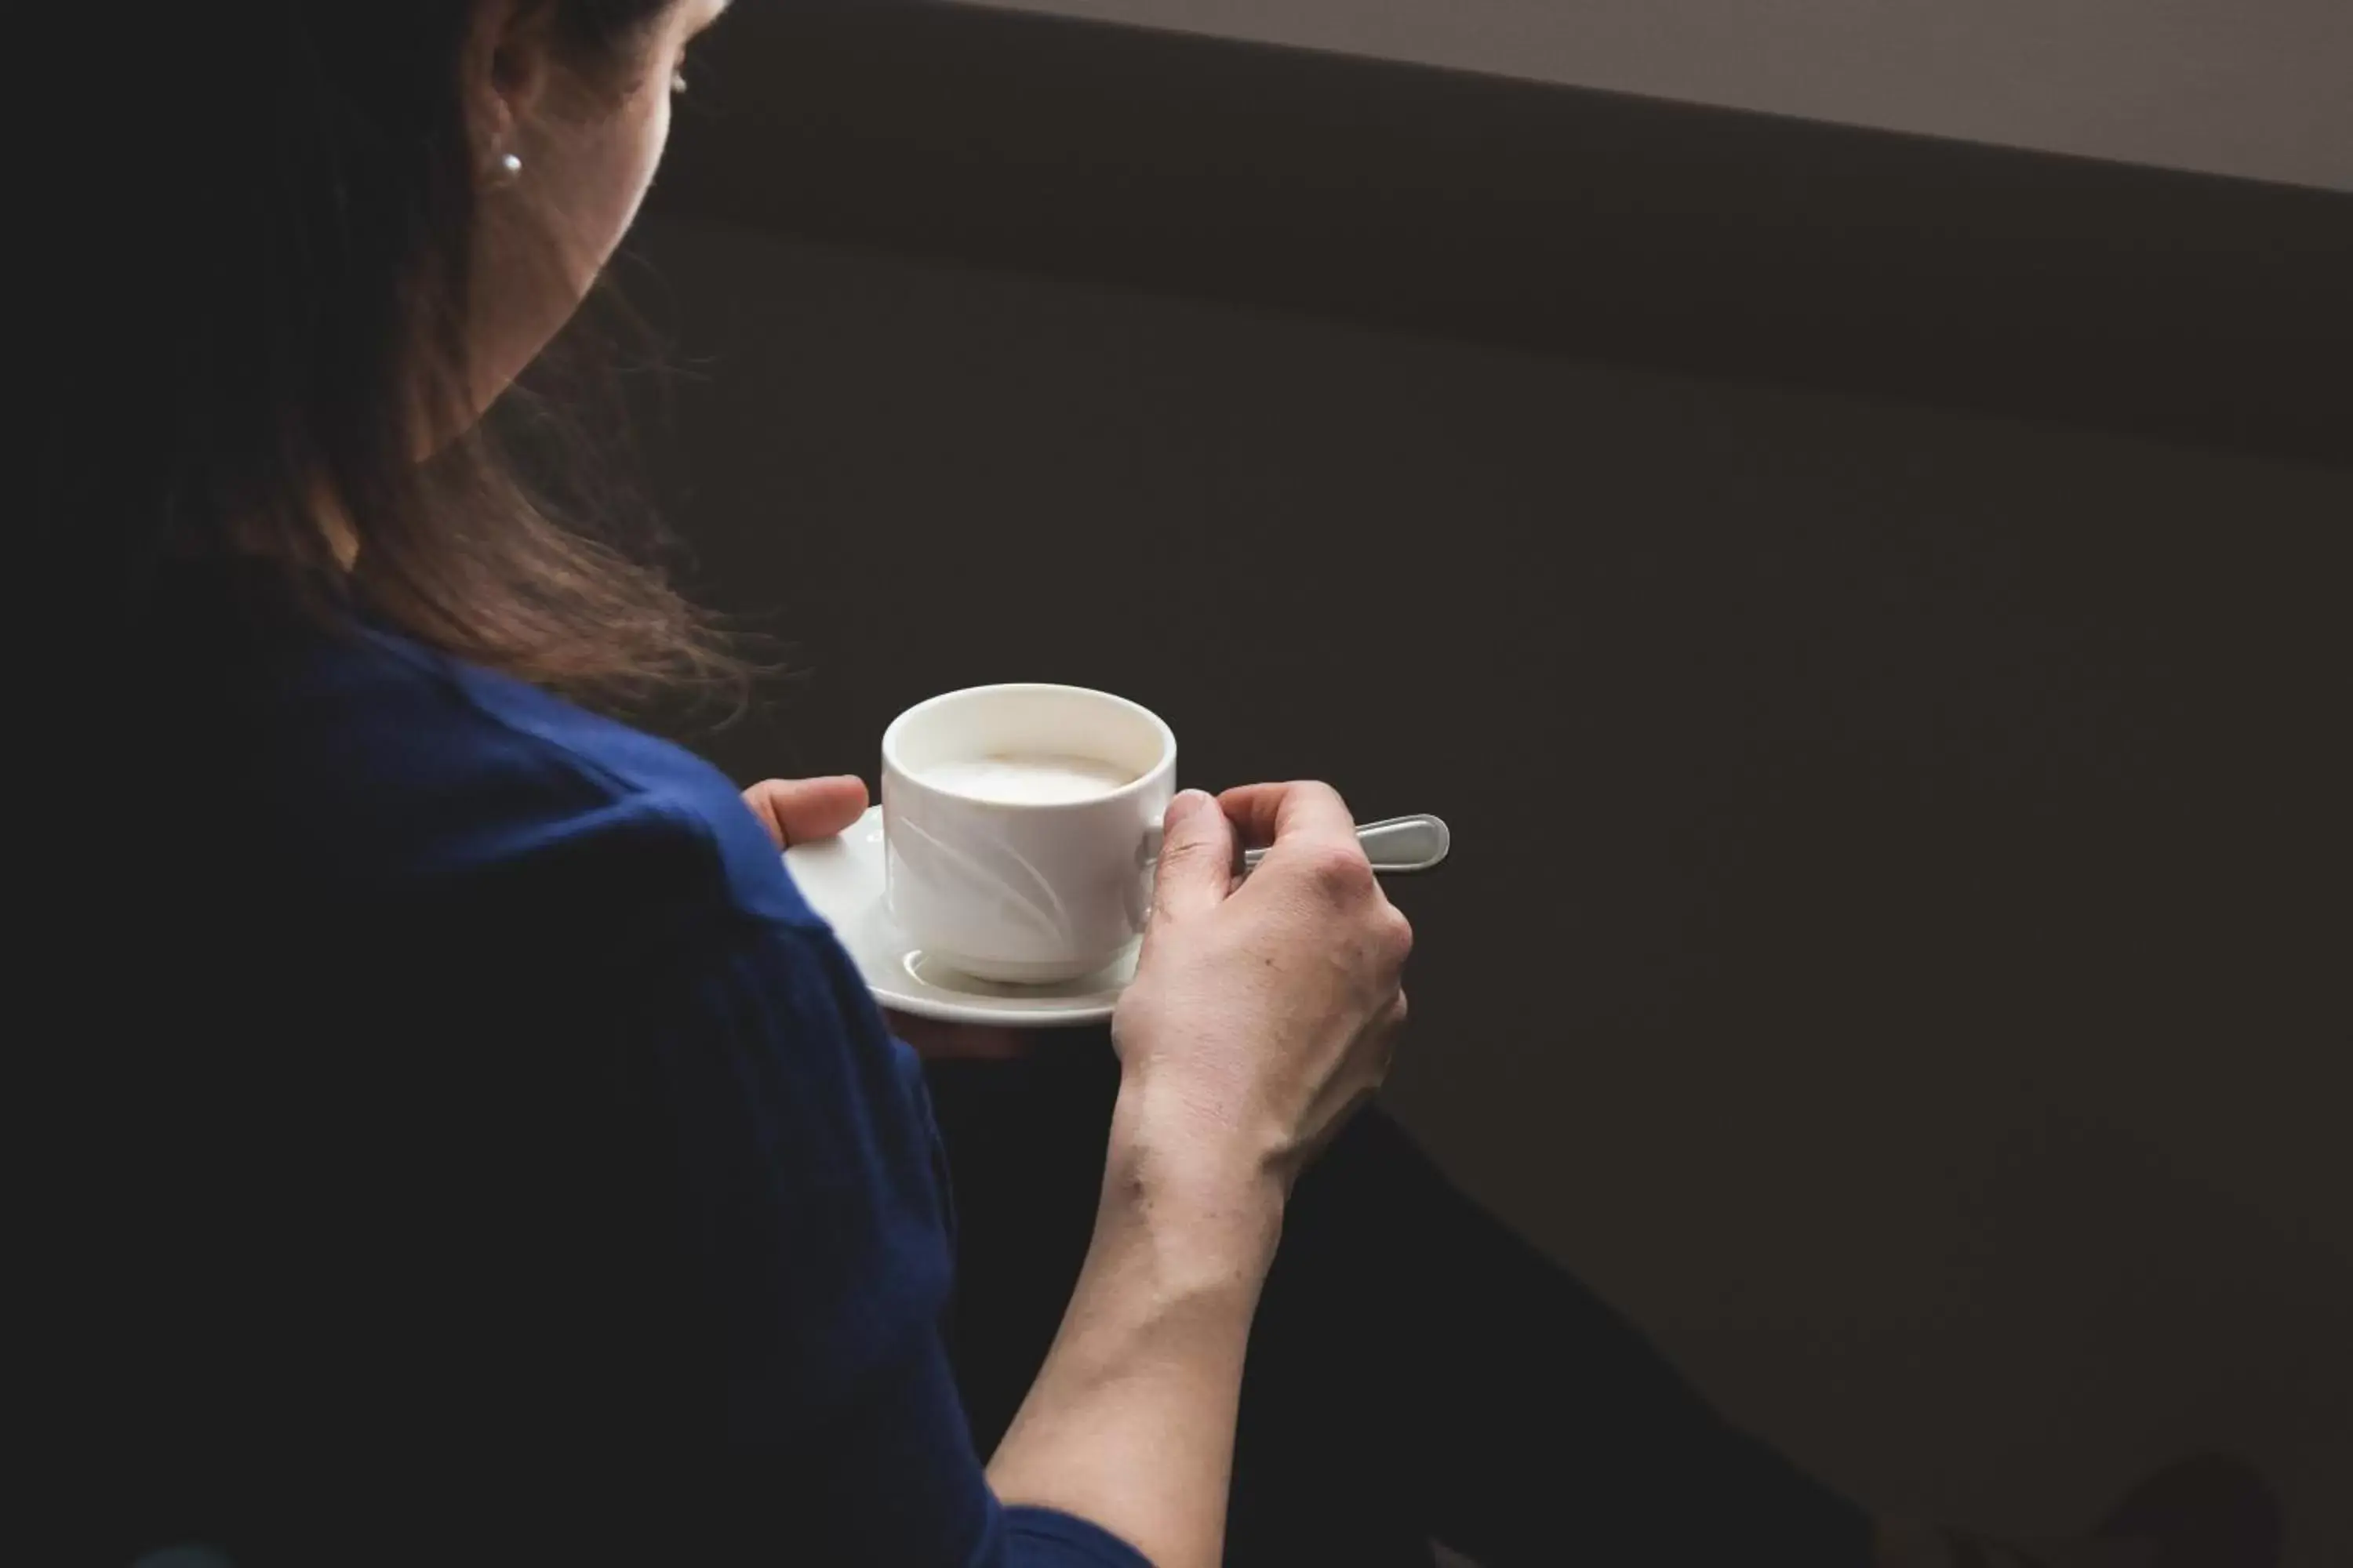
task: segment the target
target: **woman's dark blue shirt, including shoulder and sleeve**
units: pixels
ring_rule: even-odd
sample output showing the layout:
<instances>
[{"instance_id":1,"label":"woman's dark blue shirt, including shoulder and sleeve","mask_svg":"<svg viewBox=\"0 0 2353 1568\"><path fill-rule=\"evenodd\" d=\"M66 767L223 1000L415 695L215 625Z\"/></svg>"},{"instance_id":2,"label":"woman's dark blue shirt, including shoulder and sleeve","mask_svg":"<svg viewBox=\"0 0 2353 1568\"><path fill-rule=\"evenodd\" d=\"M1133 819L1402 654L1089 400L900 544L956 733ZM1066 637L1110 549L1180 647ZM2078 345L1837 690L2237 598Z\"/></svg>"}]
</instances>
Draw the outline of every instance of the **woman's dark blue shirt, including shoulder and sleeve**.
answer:
<instances>
[{"instance_id":1,"label":"woman's dark blue shirt, including shoulder and sleeve","mask_svg":"<svg viewBox=\"0 0 2353 1568\"><path fill-rule=\"evenodd\" d=\"M922 1079L727 778L235 569L146 637L56 976L118 1563L1141 1561L988 1493Z\"/></svg>"}]
</instances>

